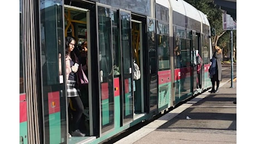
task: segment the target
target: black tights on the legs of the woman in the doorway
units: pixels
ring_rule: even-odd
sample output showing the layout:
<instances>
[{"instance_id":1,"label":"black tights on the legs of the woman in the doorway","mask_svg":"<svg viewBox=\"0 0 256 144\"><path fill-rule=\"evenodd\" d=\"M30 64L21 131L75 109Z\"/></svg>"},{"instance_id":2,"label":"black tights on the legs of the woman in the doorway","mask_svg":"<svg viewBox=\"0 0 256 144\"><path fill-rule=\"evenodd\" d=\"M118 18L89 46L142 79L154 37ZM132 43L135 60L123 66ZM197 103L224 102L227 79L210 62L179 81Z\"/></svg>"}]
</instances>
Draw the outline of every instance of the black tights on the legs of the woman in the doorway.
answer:
<instances>
[{"instance_id":1,"label":"black tights on the legs of the woman in the doorway","mask_svg":"<svg viewBox=\"0 0 256 144\"><path fill-rule=\"evenodd\" d=\"M76 109L76 111L71 110L72 115L73 115L72 122L71 122L71 114L70 114L70 112L68 112L68 121L69 121L68 127L70 127L68 131L70 131L70 130L75 131L79 128L80 120L81 120L81 117L83 114L84 107L83 107L83 103L80 99L80 96L68 97L67 98L68 104L70 103L70 100L72 101L72 106L73 106L73 108ZM71 128L70 124L72 124L72 128Z\"/></svg>"}]
</instances>

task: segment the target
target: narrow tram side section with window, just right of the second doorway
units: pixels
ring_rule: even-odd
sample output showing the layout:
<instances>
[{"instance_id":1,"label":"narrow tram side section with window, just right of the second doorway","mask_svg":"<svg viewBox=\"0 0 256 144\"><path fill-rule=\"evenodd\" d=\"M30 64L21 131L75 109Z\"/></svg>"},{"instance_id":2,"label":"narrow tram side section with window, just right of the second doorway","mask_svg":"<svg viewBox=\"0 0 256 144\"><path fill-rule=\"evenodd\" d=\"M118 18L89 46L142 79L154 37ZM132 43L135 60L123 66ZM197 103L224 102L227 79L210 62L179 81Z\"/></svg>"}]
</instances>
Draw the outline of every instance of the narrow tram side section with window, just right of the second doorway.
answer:
<instances>
[{"instance_id":1,"label":"narrow tram side section with window, just right of the second doorway","mask_svg":"<svg viewBox=\"0 0 256 144\"><path fill-rule=\"evenodd\" d=\"M156 39L158 61L158 112L171 106L171 52L169 43L169 2L156 2Z\"/></svg>"}]
</instances>

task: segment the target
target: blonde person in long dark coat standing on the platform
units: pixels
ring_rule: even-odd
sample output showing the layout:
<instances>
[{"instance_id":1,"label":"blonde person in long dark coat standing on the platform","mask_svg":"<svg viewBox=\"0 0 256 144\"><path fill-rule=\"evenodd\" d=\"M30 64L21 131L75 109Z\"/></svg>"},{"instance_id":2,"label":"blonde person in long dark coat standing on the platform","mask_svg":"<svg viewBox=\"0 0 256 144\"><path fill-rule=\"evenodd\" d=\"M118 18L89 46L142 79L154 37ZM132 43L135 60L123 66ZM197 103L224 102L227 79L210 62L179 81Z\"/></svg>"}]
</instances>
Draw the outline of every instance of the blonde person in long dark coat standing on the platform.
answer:
<instances>
[{"instance_id":1,"label":"blonde person in long dark coat standing on the platform","mask_svg":"<svg viewBox=\"0 0 256 144\"><path fill-rule=\"evenodd\" d=\"M222 73L222 50L219 46L215 46L215 52L213 54L213 58L211 59L211 66L210 66L210 78L211 78L211 85L212 88L209 92L215 93L219 92L219 84L221 81L221 73ZM216 89L215 89L215 81L216 81Z\"/></svg>"}]
</instances>

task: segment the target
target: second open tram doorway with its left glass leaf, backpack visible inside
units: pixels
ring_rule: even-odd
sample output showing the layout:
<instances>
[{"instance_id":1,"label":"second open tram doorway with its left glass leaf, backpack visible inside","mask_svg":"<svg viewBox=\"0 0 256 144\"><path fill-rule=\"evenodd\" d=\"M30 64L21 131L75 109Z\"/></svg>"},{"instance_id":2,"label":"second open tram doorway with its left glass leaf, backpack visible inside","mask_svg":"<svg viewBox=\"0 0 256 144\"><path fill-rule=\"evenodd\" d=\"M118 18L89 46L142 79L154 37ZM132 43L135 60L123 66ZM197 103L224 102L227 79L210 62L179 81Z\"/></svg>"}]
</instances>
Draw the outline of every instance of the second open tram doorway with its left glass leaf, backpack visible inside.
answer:
<instances>
[{"instance_id":1,"label":"second open tram doorway with its left glass leaf, backpack visible inside","mask_svg":"<svg viewBox=\"0 0 256 144\"><path fill-rule=\"evenodd\" d=\"M119 9L120 33L120 104L121 104L121 125L129 124L139 117L144 110L143 91L143 58L142 41L144 35L142 27L146 25L145 17L131 14L129 11ZM116 52L117 53L117 50ZM115 62L116 63L116 62ZM134 78L135 66L139 66L140 78Z\"/></svg>"}]
</instances>

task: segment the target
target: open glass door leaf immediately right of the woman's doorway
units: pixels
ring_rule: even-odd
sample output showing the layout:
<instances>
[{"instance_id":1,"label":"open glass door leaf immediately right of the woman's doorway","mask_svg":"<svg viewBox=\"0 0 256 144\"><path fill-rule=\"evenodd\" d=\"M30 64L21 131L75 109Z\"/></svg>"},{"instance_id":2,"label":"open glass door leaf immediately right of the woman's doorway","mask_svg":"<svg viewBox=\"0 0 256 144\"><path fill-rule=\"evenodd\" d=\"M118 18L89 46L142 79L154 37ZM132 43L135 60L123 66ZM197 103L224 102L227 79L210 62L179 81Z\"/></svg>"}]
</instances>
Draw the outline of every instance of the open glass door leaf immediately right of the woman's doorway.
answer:
<instances>
[{"instance_id":1,"label":"open glass door leaf immediately right of the woman's doorway","mask_svg":"<svg viewBox=\"0 0 256 144\"><path fill-rule=\"evenodd\" d=\"M96 33L97 33L97 49L95 61L97 66L97 78L99 79L97 86L99 89L99 135L104 135L107 131L111 131L115 124L115 104L114 101L114 77L111 74L113 69L113 49L112 49L112 10L110 6L96 3ZM93 63L93 61L92 61ZM93 70L93 68L92 68ZM118 103L119 104L119 103ZM93 112L94 113L94 112ZM97 116L95 116L97 117ZM94 121L93 121L94 122ZM95 125L93 129L95 129Z\"/></svg>"}]
</instances>

